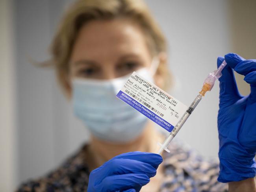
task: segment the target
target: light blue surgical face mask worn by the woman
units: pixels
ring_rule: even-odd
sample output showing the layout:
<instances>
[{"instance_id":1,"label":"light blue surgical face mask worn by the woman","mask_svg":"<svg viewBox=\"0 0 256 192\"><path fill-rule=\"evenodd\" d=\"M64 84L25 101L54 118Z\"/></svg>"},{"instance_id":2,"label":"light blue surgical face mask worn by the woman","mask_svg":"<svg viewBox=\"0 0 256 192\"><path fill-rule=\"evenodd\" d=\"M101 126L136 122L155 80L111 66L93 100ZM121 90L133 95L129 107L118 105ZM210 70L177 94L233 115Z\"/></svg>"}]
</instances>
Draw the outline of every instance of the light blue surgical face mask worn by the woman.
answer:
<instances>
[{"instance_id":1,"label":"light blue surgical face mask worn by the woman","mask_svg":"<svg viewBox=\"0 0 256 192\"><path fill-rule=\"evenodd\" d=\"M137 71L153 82L147 68ZM111 80L73 79L74 114L102 140L128 142L141 135L148 119L116 98L130 74Z\"/></svg>"}]
</instances>

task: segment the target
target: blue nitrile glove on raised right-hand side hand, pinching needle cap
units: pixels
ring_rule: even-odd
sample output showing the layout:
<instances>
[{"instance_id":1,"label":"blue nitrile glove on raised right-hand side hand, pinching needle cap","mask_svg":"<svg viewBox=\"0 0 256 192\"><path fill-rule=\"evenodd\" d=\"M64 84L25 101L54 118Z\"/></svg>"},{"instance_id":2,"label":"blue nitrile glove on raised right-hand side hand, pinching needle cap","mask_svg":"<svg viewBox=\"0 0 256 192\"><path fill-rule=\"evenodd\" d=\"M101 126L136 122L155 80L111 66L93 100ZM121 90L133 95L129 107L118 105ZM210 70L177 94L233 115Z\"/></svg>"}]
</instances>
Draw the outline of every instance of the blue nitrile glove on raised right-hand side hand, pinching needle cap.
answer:
<instances>
[{"instance_id":1,"label":"blue nitrile glove on raised right-hand side hand, pinching needle cap","mask_svg":"<svg viewBox=\"0 0 256 192\"><path fill-rule=\"evenodd\" d=\"M221 65L219 57L217 65ZM220 173L218 181L241 181L256 175L256 59L245 60L237 54L225 55L227 66L220 81L218 114ZM241 96L233 69L245 76L250 94Z\"/></svg>"}]
</instances>

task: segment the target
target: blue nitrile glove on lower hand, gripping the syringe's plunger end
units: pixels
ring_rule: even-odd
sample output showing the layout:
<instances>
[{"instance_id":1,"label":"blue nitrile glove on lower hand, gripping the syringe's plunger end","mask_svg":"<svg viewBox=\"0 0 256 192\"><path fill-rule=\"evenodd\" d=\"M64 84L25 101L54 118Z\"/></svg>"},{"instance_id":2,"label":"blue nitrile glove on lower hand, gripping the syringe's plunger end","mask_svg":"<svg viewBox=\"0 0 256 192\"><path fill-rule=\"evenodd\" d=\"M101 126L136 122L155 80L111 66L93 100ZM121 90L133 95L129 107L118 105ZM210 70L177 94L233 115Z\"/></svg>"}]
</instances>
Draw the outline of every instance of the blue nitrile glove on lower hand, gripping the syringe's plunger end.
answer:
<instances>
[{"instance_id":1,"label":"blue nitrile glove on lower hand, gripping the syringe's plunger end","mask_svg":"<svg viewBox=\"0 0 256 192\"><path fill-rule=\"evenodd\" d=\"M88 192L138 192L156 175L161 155L129 152L117 155L89 175Z\"/></svg>"}]
</instances>

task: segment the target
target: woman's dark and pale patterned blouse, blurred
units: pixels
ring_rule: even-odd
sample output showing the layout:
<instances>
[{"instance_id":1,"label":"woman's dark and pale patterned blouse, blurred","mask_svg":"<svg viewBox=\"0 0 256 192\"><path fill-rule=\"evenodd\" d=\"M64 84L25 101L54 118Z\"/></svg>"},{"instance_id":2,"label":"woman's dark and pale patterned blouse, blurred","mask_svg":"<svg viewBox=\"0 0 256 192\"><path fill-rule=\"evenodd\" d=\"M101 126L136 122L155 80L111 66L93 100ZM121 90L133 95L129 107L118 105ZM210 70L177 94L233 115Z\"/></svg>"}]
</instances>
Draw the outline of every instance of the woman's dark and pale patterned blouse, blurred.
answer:
<instances>
[{"instance_id":1,"label":"woman's dark and pale patterned blouse, blurred","mask_svg":"<svg viewBox=\"0 0 256 192\"><path fill-rule=\"evenodd\" d=\"M23 183L18 192L86 191L89 168L86 163L88 145L67 159L59 168L36 180ZM171 153L163 153L164 179L159 192L225 192L227 184L219 183L219 164L204 161L195 151L172 142Z\"/></svg>"}]
</instances>

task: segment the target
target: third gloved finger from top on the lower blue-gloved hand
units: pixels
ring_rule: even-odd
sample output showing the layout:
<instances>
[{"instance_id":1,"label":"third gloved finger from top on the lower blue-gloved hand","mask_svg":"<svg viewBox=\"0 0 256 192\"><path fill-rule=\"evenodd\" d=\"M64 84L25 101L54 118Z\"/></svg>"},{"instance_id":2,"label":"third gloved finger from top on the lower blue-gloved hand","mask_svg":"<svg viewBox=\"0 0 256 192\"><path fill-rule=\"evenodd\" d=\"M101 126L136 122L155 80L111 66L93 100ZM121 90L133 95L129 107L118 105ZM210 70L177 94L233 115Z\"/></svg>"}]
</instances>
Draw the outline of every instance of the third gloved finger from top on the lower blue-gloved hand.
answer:
<instances>
[{"instance_id":1,"label":"third gloved finger from top on the lower blue-gloved hand","mask_svg":"<svg viewBox=\"0 0 256 192\"><path fill-rule=\"evenodd\" d=\"M138 191L143 185L146 185L150 179L145 174L124 174L124 175L111 175L105 177L101 183L95 186L96 191L112 191L126 190L134 188ZM138 189L138 190L137 190Z\"/></svg>"}]
</instances>

